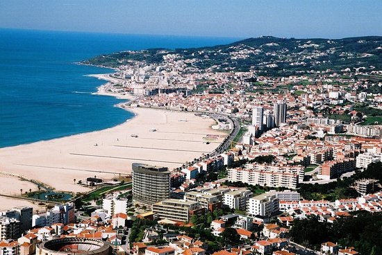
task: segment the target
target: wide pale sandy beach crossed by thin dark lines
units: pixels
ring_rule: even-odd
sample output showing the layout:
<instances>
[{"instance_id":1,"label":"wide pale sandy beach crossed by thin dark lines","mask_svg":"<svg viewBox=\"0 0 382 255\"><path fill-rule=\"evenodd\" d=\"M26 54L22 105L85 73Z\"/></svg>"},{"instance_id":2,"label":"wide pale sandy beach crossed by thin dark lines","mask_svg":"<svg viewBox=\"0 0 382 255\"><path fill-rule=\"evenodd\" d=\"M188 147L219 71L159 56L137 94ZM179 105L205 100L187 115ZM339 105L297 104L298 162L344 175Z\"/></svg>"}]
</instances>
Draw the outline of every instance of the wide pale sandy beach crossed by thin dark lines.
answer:
<instances>
[{"instance_id":1,"label":"wide pale sandy beach crossed by thin dark lines","mask_svg":"<svg viewBox=\"0 0 382 255\"><path fill-rule=\"evenodd\" d=\"M128 175L133 162L167 166L171 170L212 152L226 135L210 128L215 123L213 119L192 113L139 107L131 111L135 117L114 128L1 148L0 171L35 179L56 191L83 192L88 188L74 184L74 179ZM207 134L219 134L219 138L206 144ZM20 188L37 190L30 182L8 175L0 177L0 193L19 195ZM6 201L0 197L0 203L3 202Z\"/></svg>"}]
</instances>

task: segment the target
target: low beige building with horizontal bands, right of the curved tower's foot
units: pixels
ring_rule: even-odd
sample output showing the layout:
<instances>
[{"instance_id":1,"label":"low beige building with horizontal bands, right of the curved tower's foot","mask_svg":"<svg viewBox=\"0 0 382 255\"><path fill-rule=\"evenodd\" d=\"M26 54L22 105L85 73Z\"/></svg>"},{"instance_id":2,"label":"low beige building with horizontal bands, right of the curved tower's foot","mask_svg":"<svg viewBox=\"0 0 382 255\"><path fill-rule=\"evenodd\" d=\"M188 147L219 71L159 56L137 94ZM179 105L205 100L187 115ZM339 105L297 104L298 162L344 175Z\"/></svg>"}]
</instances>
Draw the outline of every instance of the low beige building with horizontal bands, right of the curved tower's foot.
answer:
<instances>
[{"instance_id":1,"label":"low beige building with horizontal bands, right of the curved tower's foot","mask_svg":"<svg viewBox=\"0 0 382 255\"><path fill-rule=\"evenodd\" d=\"M153 204L153 213L161 220L176 220L181 222L190 221L194 214L201 215L206 211L199 202L168 199Z\"/></svg>"}]
</instances>

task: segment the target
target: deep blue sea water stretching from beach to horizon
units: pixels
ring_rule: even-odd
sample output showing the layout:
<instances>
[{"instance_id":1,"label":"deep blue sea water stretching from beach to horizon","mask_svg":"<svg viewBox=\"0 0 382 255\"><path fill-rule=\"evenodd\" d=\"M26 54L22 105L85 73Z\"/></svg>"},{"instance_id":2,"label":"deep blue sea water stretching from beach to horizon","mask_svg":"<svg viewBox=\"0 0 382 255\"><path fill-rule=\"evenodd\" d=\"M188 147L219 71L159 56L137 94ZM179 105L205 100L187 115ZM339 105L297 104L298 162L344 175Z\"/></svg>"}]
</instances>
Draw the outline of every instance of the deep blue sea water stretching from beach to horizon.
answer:
<instances>
[{"instance_id":1,"label":"deep blue sea water stretching from beach to horizon","mask_svg":"<svg viewBox=\"0 0 382 255\"><path fill-rule=\"evenodd\" d=\"M85 75L113 70L75 62L122 50L235 40L0 29L0 148L103 130L133 117L113 107L117 98L92 95L103 81Z\"/></svg>"}]
</instances>

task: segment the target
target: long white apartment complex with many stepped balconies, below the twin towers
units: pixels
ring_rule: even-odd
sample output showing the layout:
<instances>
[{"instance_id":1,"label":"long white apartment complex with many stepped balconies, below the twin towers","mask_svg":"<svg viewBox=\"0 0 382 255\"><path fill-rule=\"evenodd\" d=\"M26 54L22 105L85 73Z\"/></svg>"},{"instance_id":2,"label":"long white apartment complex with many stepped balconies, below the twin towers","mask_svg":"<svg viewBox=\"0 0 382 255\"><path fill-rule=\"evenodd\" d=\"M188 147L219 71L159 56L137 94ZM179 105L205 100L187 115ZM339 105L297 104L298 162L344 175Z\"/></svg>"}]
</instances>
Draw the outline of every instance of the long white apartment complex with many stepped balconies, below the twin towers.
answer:
<instances>
[{"instance_id":1,"label":"long white apartment complex with many stepped balconies, below the twin towers","mask_svg":"<svg viewBox=\"0 0 382 255\"><path fill-rule=\"evenodd\" d=\"M304 180L302 166L271 166L256 164L250 168L231 168L229 181L268 187L297 188Z\"/></svg>"}]
</instances>

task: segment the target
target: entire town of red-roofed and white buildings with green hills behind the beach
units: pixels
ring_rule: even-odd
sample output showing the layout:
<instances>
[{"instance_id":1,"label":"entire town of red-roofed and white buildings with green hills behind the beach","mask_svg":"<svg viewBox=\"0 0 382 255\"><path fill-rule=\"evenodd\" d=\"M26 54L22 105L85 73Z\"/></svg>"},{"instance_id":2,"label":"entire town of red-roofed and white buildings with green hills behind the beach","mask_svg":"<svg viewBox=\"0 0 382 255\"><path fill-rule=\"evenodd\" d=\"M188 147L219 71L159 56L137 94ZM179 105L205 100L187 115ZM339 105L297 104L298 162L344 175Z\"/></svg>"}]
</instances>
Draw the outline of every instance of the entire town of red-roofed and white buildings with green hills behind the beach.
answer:
<instances>
[{"instance_id":1,"label":"entire town of red-roofed and white buildings with green hills behind the beach","mask_svg":"<svg viewBox=\"0 0 382 255\"><path fill-rule=\"evenodd\" d=\"M0 255L381 254L381 58L382 37L258 37L81 62L115 69L98 93L118 107L213 118L215 149L21 190L47 208L0 211Z\"/></svg>"}]
</instances>

